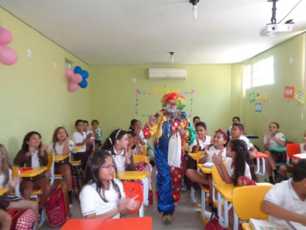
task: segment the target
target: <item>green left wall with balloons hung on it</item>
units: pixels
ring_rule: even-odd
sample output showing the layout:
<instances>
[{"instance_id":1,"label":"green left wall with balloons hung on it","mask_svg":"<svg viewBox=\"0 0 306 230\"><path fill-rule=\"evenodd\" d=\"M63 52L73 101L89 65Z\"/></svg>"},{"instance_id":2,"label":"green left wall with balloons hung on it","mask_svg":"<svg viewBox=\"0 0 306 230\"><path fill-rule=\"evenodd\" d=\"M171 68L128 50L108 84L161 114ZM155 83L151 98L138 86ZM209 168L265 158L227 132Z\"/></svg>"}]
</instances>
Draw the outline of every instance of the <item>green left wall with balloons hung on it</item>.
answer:
<instances>
[{"instance_id":1,"label":"green left wall with balloons hung on it","mask_svg":"<svg viewBox=\"0 0 306 230\"><path fill-rule=\"evenodd\" d=\"M43 144L49 144L56 127L71 134L75 120L91 119L89 87L68 92L65 58L85 70L88 65L1 7L0 26L13 34L9 46L18 54L14 65L0 64L0 143L12 162L27 132L40 132Z\"/></svg>"}]
</instances>

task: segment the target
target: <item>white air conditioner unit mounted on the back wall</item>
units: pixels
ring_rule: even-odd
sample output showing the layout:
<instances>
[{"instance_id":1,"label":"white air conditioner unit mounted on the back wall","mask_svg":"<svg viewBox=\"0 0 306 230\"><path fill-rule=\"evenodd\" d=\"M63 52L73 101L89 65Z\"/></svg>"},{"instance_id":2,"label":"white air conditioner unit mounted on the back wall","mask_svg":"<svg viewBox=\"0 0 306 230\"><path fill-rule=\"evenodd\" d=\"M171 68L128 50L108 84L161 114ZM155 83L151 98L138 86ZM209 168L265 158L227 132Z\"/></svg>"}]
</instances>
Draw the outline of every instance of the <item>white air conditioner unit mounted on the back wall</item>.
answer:
<instances>
[{"instance_id":1,"label":"white air conditioner unit mounted on the back wall","mask_svg":"<svg viewBox=\"0 0 306 230\"><path fill-rule=\"evenodd\" d=\"M149 68L150 80L184 80L186 77L186 68Z\"/></svg>"}]
</instances>

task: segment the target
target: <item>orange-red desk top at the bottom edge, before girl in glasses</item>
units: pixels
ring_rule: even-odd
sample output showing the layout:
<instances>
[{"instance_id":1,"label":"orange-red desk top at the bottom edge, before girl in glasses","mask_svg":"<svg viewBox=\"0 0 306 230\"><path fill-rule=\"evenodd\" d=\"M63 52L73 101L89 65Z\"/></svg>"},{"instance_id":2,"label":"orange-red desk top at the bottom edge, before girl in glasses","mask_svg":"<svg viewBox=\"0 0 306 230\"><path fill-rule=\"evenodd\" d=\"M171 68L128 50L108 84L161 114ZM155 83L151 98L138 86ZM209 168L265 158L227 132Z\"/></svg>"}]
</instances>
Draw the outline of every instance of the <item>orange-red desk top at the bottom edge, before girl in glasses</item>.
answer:
<instances>
[{"instance_id":1,"label":"orange-red desk top at the bottom edge, before girl in glasses","mask_svg":"<svg viewBox=\"0 0 306 230\"><path fill-rule=\"evenodd\" d=\"M69 219L61 230L151 230L151 217L121 219Z\"/></svg>"}]
</instances>

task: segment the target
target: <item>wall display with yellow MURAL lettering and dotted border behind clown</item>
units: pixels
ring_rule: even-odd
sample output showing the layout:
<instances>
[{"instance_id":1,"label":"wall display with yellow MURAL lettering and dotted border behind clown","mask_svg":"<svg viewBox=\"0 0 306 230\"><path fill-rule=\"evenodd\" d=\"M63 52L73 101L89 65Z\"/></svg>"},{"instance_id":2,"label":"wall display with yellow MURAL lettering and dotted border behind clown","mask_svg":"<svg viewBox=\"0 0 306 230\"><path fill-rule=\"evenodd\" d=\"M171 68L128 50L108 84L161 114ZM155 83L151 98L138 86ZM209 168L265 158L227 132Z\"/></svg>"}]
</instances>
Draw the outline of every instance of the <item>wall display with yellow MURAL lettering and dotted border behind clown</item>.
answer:
<instances>
[{"instance_id":1,"label":"wall display with yellow MURAL lettering and dotted border behind clown","mask_svg":"<svg viewBox=\"0 0 306 230\"><path fill-rule=\"evenodd\" d=\"M184 111L187 113L188 117L192 117L195 90L192 89L182 91L180 88L170 88L167 87L167 85L161 88L152 88L149 91L135 89L135 114L140 114L142 117L149 117L160 108L156 108L156 111L154 109L152 111L146 111L147 106L145 105L151 104L150 102L154 103L156 101L160 101L164 94L172 92L185 97L186 107Z\"/></svg>"}]
</instances>

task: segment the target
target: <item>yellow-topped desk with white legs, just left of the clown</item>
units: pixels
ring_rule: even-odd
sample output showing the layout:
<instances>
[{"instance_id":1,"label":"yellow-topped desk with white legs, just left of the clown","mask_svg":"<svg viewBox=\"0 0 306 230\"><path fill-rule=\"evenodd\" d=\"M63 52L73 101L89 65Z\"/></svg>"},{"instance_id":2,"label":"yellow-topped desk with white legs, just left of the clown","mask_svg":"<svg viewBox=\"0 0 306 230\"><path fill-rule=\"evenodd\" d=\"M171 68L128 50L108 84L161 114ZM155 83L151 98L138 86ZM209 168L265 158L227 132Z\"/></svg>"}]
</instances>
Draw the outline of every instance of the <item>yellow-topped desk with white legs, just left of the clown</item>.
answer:
<instances>
[{"instance_id":1,"label":"yellow-topped desk with white legs, just left of the clown","mask_svg":"<svg viewBox=\"0 0 306 230\"><path fill-rule=\"evenodd\" d=\"M144 216L144 205L149 204L149 181L147 175L149 172L139 172L139 171L120 171L118 172L119 180L141 180L143 184L143 202L139 210L139 217Z\"/></svg>"}]
</instances>

